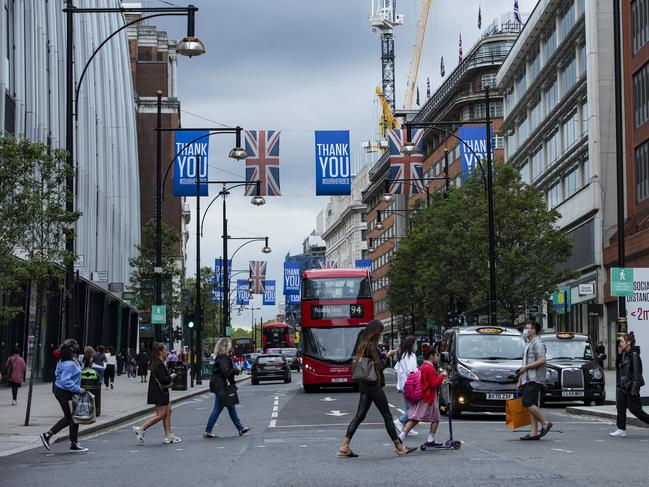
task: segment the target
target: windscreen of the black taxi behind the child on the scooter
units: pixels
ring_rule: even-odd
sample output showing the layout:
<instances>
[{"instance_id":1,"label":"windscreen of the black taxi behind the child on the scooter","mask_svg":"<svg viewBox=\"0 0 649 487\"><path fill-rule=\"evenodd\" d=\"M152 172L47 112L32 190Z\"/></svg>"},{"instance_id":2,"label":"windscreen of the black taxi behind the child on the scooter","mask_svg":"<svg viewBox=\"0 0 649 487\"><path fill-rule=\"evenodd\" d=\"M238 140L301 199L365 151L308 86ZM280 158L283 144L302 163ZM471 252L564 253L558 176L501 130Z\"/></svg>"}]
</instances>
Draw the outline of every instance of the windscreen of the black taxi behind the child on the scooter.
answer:
<instances>
[{"instance_id":1,"label":"windscreen of the black taxi behind the child on the scooter","mask_svg":"<svg viewBox=\"0 0 649 487\"><path fill-rule=\"evenodd\" d=\"M522 336L460 335L457 356L475 360L521 360L525 342Z\"/></svg>"}]
</instances>

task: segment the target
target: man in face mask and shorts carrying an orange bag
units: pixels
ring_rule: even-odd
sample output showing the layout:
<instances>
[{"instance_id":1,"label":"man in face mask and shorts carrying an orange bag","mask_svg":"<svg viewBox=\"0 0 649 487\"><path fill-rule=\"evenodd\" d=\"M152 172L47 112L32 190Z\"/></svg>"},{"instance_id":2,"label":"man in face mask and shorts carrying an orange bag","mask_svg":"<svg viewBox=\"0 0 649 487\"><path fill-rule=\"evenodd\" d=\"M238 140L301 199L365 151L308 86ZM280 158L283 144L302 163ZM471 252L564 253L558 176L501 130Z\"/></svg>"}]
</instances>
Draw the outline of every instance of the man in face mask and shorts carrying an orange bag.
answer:
<instances>
[{"instance_id":1,"label":"man in face mask and shorts carrying an orange bag","mask_svg":"<svg viewBox=\"0 0 649 487\"><path fill-rule=\"evenodd\" d=\"M536 321L525 324L523 335L527 338L527 346L523 352L523 366L516 371L518 384L516 390L523 389L523 406L530 413L530 434L521 440L540 440L550 429L552 423L546 420L539 409L539 396L545 386L545 345L539 333L541 325ZM541 431L539 432L539 424Z\"/></svg>"}]
</instances>

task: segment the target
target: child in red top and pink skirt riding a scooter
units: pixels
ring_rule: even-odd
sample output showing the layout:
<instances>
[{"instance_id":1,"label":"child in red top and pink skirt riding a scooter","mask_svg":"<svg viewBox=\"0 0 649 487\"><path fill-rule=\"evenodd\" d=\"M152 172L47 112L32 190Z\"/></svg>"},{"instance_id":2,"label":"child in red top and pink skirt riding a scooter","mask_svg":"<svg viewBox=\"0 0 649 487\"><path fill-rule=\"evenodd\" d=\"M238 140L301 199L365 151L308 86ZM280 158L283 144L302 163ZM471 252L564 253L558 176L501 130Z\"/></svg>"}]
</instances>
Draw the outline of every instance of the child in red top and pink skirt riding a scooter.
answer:
<instances>
[{"instance_id":1,"label":"child in red top and pink skirt riding a scooter","mask_svg":"<svg viewBox=\"0 0 649 487\"><path fill-rule=\"evenodd\" d=\"M437 362L439 362L439 352L437 347L431 347L423 354L424 363L421 364L421 389L423 398L410 406L408 414L408 423L403 428L399 438L403 441L408 432L417 426L421 421L430 423L430 433L426 438L426 446L441 445L435 441L435 433L439 426L439 400L437 397L437 388L446 377L446 372L437 373ZM423 447L422 447L423 448Z\"/></svg>"}]
</instances>

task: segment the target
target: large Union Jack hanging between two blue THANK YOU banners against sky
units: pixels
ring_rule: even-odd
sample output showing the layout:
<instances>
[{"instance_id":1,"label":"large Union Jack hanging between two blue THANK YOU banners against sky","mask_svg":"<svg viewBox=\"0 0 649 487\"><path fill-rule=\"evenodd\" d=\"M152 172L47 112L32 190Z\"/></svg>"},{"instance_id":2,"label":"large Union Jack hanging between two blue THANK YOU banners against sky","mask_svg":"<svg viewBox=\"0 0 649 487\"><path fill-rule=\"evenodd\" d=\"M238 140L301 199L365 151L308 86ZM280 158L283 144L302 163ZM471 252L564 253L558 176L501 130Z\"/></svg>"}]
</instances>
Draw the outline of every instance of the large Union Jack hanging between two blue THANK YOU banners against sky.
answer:
<instances>
[{"instance_id":1,"label":"large Union Jack hanging between two blue THANK YOU banners against sky","mask_svg":"<svg viewBox=\"0 0 649 487\"><path fill-rule=\"evenodd\" d=\"M246 182L261 181L246 186L247 196L281 196L279 189L279 134L278 130L246 130Z\"/></svg>"}]
</instances>

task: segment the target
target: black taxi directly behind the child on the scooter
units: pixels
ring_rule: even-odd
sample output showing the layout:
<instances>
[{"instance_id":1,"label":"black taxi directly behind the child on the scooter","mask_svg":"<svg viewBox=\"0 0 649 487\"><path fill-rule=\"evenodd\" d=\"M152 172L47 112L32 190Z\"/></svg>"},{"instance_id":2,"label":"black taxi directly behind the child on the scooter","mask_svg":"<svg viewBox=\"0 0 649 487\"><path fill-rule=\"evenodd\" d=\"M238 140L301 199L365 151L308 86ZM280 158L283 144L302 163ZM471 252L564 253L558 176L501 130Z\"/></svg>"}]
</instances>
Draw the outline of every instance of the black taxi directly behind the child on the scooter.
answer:
<instances>
[{"instance_id":1,"label":"black taxi directly behind the child on the scooter","mask_svg":"<svg viewBox=\"0 0 649 487\"><path fill-rule=\"evenodd\" d=\"M463 411L504 412L513 399L525 340L504 326L462 326L446 330L440 343L440 366L449 386L442 388L440 408L452 400L454 417Z\"/></svg>"}]
</instances>

